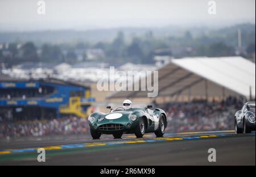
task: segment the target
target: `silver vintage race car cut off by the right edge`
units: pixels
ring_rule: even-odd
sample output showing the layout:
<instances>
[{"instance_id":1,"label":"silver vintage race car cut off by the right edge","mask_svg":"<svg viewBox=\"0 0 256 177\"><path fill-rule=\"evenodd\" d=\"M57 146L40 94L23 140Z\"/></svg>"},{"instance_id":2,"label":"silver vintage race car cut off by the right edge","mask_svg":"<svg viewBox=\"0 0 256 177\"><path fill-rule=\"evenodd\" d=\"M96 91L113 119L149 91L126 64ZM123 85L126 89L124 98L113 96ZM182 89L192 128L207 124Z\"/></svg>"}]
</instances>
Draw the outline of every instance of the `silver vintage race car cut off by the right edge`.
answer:
<instances>
[{"instance_id":1,"label":"silver vintage race car cut off by the right edge","mask_svg":"<svg viewBox=\"0 0 256 177\"><path fill-rule=\"evenodd\" d=\"M255 102L247 102L235 116L236 133L251 133L255 131Z\"/></svg>"}]
</instances>

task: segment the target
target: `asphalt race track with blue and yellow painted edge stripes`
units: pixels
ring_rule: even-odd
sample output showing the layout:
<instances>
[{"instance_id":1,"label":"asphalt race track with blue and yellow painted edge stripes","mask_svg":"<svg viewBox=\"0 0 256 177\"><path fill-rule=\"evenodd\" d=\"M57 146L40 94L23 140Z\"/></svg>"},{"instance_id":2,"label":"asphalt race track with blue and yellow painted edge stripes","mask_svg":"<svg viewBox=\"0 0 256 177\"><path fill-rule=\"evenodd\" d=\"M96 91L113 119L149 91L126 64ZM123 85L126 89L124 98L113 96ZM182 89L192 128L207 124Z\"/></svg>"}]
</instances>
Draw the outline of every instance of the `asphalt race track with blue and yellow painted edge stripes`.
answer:
<instances>
[{"instance_id":1,"label":"asphalt race track with blue and yellow painted edge stripes","mask_svg":"<svg viewBox=\"0 0 256 177\"><path fill-rule=\"evenodd\" d=\"M46 150L38 162L37 149ZM208 162L214 148L217 162ZM163 138L124 135L121 140L1 142L0 165L254 165L255 133L233 131L167 133Z\"/></svg>"}]
</instances>

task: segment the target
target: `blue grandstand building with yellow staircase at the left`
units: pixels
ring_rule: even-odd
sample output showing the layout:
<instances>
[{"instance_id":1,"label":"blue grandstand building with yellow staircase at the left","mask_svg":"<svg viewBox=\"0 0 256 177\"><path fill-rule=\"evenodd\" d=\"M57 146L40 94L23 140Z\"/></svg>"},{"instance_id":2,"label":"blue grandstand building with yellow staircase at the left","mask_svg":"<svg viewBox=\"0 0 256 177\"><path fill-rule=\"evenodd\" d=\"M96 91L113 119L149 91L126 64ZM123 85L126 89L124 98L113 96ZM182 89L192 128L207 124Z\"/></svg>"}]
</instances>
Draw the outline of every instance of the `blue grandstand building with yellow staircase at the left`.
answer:
<instances>
[{"instance_id":1,"label":"blue grandstand building with yellow staircase at the left","mask_svg":"<svg viewBox=\"0 0 256 177\"><path fill-rule=\"evenodd\" d=\"M44 120L75 115L86 118L90 87L59 79L14 79L1 77L0 117L13 120ZM5 120L3 120L5 121Z\"/></svg>"}]
</instances>

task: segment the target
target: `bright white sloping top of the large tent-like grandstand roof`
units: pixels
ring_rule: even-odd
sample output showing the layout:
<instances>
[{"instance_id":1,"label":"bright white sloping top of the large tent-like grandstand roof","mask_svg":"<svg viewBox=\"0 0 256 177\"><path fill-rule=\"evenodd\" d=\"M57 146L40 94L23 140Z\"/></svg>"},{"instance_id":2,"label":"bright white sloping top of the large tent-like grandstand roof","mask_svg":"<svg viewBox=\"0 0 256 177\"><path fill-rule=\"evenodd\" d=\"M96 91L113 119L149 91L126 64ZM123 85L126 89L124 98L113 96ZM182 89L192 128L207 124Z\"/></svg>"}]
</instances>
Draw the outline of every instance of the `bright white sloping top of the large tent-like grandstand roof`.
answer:
<instances>
[{"instance_id":1,"label":"bright white sloping top of the large tent-like grandstand roof","mask_svg":"<svg viewBox=\"0 0 256 177\"><path fill-rule=\"evenodd\" d=\"M172 61L243 96L255 96L255 64L242 57L183 58Z\"/></svg>"}]
</instances>

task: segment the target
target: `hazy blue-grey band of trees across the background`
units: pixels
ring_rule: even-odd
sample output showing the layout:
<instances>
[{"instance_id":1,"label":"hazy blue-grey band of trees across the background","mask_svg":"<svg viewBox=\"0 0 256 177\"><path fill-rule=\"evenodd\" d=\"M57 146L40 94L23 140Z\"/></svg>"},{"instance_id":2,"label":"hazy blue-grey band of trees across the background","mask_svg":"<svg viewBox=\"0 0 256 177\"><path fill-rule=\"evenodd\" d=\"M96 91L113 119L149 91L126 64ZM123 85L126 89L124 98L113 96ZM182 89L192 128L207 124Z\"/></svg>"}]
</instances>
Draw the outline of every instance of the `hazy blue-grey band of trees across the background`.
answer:
<instances>
[{"instance_id":1,"label":"hazy blue-grey band of trees across the background","mask_svg":"<svg viewBox=\"0 0 256 177\"><path fill-rule=\"evenodd\" d=\"M251 26L238 26L242 31L243 54L255 55L255 29ZM141 35L127 35L117 32L112 41L97 43L61 43L35 45L26 43L0 44L0 63L7 66L22 62L68 62L101 61L110 64L152 64L154 56L171 57L221 57L237 54L237 28L224 28L205 32L200 36L191 31L184 31L179 36L159 36L153 31ZM238 51L241 52L241 51ZM246 57L246 55L243 55Z\"/></svg>"}]
</instances>

